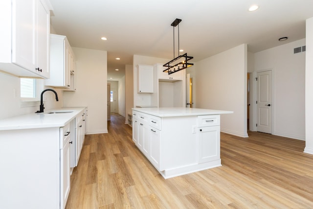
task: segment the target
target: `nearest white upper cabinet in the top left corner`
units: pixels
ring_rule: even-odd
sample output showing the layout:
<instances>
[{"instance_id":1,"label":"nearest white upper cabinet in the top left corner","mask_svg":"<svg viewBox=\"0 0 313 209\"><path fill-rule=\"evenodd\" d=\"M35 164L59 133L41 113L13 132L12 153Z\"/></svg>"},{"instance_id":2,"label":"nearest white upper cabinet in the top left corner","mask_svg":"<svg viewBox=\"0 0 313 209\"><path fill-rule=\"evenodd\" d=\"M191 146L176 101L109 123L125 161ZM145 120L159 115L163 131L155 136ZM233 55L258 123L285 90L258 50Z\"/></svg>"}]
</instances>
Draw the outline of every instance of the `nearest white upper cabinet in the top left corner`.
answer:
<instances>
[{"instance_id":1,"label":"nearest white upper cabinet in the top left corner","mask_svg":"<svg viewBox=\"0 0 313 209\"><path fill-rule=\"evenodd\" d=\"M0 70L49 77L50 11L45 0L0 3Z\"/></svg>"}]
</instances>

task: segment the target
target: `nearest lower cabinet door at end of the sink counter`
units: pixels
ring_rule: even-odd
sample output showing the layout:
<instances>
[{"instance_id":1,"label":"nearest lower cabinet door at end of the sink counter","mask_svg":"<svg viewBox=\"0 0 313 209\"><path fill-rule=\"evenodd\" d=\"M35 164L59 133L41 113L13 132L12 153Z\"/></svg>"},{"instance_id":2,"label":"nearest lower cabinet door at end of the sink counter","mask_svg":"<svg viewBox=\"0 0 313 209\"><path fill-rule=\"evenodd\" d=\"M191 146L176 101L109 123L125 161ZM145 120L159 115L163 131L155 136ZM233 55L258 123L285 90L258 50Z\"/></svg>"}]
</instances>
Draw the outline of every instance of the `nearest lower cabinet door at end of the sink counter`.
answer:
<instances>
[{"instance_id":1,"label":"nearest lower cabinet door at end of the sink counter","mask_svg":"<svg viewBox=\"0 0 313 209\"><path fill-rule=\"evenodd\" d=\"M67 137L69 138L70 135ZM69 139L68 139L69 140ZM69 165L69 141L67 140L67 143L63 147L63 149L60 150L60 190L61 190L61 209L65 208L65 205L67 203L67 198L70 190L70 165Z\"/></svg>"}]
</instances>

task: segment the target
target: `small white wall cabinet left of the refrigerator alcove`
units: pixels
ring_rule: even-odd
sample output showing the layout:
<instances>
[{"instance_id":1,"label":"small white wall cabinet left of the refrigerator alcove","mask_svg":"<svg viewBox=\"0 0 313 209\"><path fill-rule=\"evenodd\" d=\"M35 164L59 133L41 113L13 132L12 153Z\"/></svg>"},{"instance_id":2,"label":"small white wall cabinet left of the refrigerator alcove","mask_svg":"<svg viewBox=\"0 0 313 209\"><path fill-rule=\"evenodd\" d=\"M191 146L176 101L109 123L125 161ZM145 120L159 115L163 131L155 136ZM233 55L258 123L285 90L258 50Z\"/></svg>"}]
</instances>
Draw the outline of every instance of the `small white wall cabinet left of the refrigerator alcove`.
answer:
<instances>
[{"instance_id":1,"label":"small white wall cabinet left of the refrigerator alcove","mask_svg":"<svg viewBox=\"0 0 313 209\"><path fill-rule=\"evenodd\" d=\"M138 65L137 69L138 69L137 93L153 93L154 92L153 66Z\"/></svg>"}]
</instances>

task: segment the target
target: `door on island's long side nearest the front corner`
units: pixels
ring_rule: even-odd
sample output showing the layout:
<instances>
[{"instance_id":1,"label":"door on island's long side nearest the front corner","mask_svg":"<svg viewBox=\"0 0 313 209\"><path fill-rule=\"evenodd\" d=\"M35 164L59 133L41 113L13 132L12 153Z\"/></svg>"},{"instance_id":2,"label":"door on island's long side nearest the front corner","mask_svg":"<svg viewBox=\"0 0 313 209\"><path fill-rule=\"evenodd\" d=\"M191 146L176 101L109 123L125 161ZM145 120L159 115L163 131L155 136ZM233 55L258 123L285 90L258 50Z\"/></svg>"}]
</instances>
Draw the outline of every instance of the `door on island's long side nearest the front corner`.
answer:
<instances>
[{"instance_id":1,"label":"door on island's long side nearest the front corner","mask_svg":"<svg viewBox=\"0 0 313 209\"><path fill-rule=\"evenodd\" d=\"M150 162L161 171L160 165L160 147L161 147L161 135L160 131L156 128L150 128L150 150L149 150L149 160Z\"/></svg>"}]
</instances>

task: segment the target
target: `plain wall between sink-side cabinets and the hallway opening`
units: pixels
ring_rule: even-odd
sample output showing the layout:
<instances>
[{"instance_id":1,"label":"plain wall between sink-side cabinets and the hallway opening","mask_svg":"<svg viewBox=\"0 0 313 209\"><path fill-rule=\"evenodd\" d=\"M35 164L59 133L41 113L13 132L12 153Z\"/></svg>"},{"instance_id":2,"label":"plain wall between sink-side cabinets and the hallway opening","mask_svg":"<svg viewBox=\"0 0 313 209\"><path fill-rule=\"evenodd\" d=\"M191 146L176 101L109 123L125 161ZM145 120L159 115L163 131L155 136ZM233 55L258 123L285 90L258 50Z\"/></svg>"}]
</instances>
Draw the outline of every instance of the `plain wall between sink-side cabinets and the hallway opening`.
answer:
<instances>
[{"instance_id":1,"label":"plain wall between sink-side cabinets and the hallway opening","mask_svg":"<svg viewBox=\"0 0 313 209\"><path fill-rule=\"evenodd\" d=\"M76 91L64 92L64 107L88 107L87 134L108 133L107 51L72 47Z\"/></svg>"}]
</instances>

